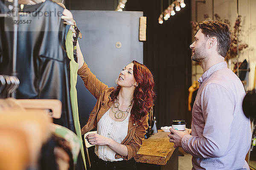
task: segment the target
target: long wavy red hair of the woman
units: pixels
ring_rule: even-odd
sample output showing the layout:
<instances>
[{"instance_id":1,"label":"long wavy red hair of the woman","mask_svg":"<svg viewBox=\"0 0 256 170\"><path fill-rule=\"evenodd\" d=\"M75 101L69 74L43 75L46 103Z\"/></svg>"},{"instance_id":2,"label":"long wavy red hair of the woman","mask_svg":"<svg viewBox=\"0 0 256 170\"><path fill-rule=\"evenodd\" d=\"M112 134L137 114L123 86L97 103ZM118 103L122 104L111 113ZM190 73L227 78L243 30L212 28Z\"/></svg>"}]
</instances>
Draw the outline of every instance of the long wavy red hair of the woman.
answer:
<instances>
[{"instance_id":1,"label":"long wavy red hair of the woman","mask_svg":"<svg viewBox=\"0 0 256 170\"><path fill-rule=\"evenodd\" d=\"M131 108L131 117L135 123L141 125L141 118L145 116L153 106L153 100L155 97L154 79L153 75L145 65L135 60L133 60L131 63L134 64L134 79L138 83L138 86L134 91L134 98L132 100L133 106ZM121 86L118 85L110 94L112 102L117 99L120 89Z\"/></svg>"}]
</instances>

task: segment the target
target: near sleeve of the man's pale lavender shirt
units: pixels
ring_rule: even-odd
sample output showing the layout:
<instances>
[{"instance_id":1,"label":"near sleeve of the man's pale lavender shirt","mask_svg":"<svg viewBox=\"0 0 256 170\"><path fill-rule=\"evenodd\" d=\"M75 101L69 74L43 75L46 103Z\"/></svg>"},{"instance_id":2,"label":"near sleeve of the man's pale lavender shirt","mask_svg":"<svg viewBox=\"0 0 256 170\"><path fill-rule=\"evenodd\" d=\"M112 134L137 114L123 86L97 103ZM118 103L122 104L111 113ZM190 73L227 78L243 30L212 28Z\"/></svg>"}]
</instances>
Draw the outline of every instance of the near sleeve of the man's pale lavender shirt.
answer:
<instances>
[{"instance_id":1,"label":"near sleeve of the man's pale lavender shirt","mask_svg":"<svg viewBox=\"0 0 256 170\"><path fill-rule=\"evenodd\" d=\"M223 156L230 142L235 102L232 93L219 84L208 84L201 95L204 130L202 136L185 135L181 145L198 158ZM192 133L193 134L193 133Z\"/></svg>"}]
</instances>

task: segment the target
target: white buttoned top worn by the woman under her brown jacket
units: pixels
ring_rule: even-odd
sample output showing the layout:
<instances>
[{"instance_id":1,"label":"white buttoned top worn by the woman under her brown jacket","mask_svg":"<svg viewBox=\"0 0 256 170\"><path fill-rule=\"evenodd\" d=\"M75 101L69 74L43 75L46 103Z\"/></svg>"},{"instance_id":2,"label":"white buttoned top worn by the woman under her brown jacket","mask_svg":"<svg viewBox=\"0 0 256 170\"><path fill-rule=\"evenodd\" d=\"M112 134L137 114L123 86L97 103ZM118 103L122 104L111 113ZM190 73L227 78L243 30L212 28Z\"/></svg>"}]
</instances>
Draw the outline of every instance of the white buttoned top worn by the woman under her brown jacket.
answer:
<instances>
[{"instance_id":1,"label":"white buttoned top worn by the woman under her brown jacket","mask_svg":"<svg viewBox=\"0 0 256 170\"><path fill-rule=\"evenodd\" d=\"M128 133L128 122L131 113L122 122L114 121L109 116L110 109L99 119L97 133L121 143ZM107 145L95 145L95 153L104 161L122 161L122 158L115 159L116 152Z\"/></svg>"}]
</instances>

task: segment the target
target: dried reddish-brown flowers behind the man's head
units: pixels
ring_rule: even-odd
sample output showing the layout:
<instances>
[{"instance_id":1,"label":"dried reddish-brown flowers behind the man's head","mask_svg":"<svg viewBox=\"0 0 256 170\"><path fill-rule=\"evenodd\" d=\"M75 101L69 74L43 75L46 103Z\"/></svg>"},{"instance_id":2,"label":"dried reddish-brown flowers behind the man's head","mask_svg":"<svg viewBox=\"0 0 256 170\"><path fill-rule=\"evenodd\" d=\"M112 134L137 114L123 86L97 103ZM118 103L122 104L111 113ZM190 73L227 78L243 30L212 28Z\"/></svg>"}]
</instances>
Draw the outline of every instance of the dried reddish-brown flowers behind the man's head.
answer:
<instances>
[{"instance_id":1,"label":"dried reddish-brown flowers behind the man's head","mask_svg":"<svg viewBox=\"0 0 256 170\"><path fill-rule=\"evenodd\" d=\"M214 15L215 20L222 21L221 17L218 14ZM204 14L204 19L209 20L209 15ZM222 21L230 26L230 21L225 19ZM192 32L195 34L198 30L198 23L196 21L191 21L191 27L192 27ZM243 49L248 47L248 44L242 44L241 40L238 39L238 31L241 31L241 15L238 16L236 19L236 23L233 27L233 30L231 30L231 45L230 45L230 50L227 53L226 59L231 59L237 57L237 42L239 42L239 52L242 51Z\"/></svg>"}]
</instances>

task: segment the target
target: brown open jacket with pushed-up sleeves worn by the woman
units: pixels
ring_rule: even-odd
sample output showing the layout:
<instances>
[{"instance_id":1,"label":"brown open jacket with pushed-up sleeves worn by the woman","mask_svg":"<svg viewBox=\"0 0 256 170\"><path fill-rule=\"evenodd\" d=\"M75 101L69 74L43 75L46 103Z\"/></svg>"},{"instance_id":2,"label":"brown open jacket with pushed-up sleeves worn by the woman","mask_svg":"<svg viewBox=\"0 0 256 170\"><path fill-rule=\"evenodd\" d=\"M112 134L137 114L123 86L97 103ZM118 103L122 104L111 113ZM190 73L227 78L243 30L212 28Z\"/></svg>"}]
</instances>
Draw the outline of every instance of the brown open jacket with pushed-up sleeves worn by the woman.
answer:
<instances>
[{"instance_id":1,"label":"brown open jacket with pushed-up sleeves worn by the woman","mask_svg":"<svg viewBox=\"0 0 256 170\"><path fill-rule=\"evenodd\" d=\"M109 88L107 85L99 81L96 76L90 71L88 65L84 62L84 65L78 70L78 75L83 79L85 87L90 91L90 93L97 99L96 105L93 111L90 113L87 124L81 129L81 133L87 133L97 126L99 119L108 111L113 104L110 94L114 90L113 87ZM128 123L128 133L125 139L121 142L128 149L128 156L121 156L116 153L115 158L123 158L128 160L136 156L139 151L142 142L144 140L144 135L148 128L148 114L142 117L143 124L138 126L135 124L131 117Z\"/></svg>"}]
</instances>

